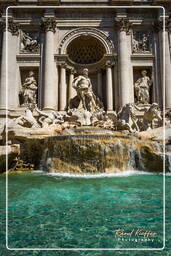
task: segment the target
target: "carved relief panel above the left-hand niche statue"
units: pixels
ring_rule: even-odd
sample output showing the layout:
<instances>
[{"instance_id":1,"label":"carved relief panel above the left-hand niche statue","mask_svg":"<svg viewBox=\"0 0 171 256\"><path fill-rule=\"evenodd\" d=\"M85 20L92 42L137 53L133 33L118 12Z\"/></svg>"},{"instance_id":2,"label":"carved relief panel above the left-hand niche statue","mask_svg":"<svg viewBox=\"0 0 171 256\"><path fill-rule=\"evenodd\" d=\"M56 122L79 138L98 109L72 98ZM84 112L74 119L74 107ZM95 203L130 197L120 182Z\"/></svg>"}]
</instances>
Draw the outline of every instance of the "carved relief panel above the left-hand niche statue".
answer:
<instances>
[{"instance_id":1,"label":"carved relief panel above the left-hand niche statue","mask_svg":"<svg viewBox=\"0 0 171 256\"><path fill-rule=\"evenodd\" d=\"M37 37L32 38L29 33L21 32L21 51L37 52L39 46Z\"/></svg>"}]
</instances>

